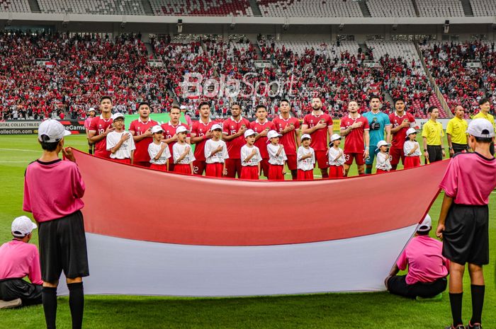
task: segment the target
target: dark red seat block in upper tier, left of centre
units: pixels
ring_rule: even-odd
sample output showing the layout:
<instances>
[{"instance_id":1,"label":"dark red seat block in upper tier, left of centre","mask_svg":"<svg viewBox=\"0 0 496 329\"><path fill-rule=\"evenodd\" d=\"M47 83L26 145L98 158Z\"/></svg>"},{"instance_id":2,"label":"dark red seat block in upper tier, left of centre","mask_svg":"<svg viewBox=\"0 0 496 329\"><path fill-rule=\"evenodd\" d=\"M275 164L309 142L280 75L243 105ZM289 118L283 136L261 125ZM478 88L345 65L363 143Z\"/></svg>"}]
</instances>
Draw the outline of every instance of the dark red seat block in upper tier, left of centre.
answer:
<instances>
[{"instance_id":1,"label":"dark red seat block in upper tier, left of centre","mask_svg":"<svg viewBox=\"0 0 496 329\"><path fill-rule=\"evenodd\" d=\"M248 0L150 0L155 15L253 16Z\"/></svg>"}]
</instances>

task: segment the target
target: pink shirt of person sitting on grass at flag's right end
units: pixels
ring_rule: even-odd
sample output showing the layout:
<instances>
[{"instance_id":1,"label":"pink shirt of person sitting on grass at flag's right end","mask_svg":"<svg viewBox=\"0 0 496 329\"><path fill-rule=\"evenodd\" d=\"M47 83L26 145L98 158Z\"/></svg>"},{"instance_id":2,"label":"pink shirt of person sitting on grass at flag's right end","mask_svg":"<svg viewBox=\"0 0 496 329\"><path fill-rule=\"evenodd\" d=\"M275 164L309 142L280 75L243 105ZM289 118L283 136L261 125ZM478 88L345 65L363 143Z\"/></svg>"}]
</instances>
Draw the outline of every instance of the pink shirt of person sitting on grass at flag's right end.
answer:
<instances>
[{"instance_id":1,"label":"pink shirt of person sitting on grass at flag's right end","mask_svg":"<svg viewBox=\"0 0 496 329\"><path fill-rule=\"evenodd\" d=\"M415 236L403 250L396 265L405 270L408 265L407 284L434 282L446 277L449 260L441 255L443 243L429 236Z\"/></svg>"}]
</instances>

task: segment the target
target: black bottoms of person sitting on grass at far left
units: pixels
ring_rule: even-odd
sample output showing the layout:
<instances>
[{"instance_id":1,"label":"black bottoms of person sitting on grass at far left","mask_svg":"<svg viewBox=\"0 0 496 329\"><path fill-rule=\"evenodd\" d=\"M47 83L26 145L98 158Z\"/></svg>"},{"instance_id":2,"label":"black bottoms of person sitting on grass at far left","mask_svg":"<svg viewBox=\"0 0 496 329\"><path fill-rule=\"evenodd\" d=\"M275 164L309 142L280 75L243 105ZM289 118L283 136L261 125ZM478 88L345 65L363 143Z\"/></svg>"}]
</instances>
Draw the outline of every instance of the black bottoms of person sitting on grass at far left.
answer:
<instances>
[{"instance_id":1,"label":"black bottoms of person sitting on grass at far left","mask_svg":"<svg viewBox=\"0 0 496 329\"><path fill-rule=\"evenodd\" d=\"M23 306L41 304L41 284L32 284L23 279L3 279L0 281L0 299L11 301L20 298Z\"/></svg>"}]
</instances>

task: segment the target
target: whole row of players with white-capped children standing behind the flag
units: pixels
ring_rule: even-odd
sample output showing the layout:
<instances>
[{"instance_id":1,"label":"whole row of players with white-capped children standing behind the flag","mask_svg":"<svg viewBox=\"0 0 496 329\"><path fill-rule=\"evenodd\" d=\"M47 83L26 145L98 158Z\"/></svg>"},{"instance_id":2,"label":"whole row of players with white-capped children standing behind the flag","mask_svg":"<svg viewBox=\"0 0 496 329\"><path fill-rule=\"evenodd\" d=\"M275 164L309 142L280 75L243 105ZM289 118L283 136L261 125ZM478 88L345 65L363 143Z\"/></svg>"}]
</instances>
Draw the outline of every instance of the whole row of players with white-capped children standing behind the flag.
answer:
<instances>
[{"instance_id":1,"label":"whole row of players with white-capped children standing behind the flag","mask_svg":"<svg viewBox=\"0 0 496 329\"><path fill-rule=\"evenodd\" d=\"M212 129L218 122L210 120L208 103L198 105L200 120L193 122L191 129L179 121L179 106L173 105L169 113L170 121L159 125L150 119L150 106L141 103L138 109L140 118L131 122L129 132L125 132L123 115L116 113L113 116L112 100L103 96L101 115L91 120L88 137L89 143L94 145L96 156L162 171L196 175L203 175L205 171L205 175L229 178L235 178L236 175L238 178L258 178L263 172L269 179L283 179L283 168L287 165L293 179L311 179L314 163L320 168L323 178L329 177L329 173L331 177L342 177L347 175L354 160L359 174L365 173L365 164L367 173L371 173L376 154L379 160L376 166L378 172L395 170L400 159L405 165L405 158L406 163L419 165L419 146L416 146L417 149L412 154L404 150L407 130L416 126L415 118L405 112L405 102L396 101L396 111L389 116L379 110L379 98L371 98L370 105L371 112L360 115L358 103L349 103L349 115L342 118L338 135L346 137L343 151L339 150L340 138L332 134L332 118L322 112L320 98L312 99L312 112L304 117L301 127L300 121L290 115L291 104L288 100L281 100L280 113L272 122L266 118L267 110L264 105L257 106L257 120L249 122L241 116L240 106L233 104L232 116L222 122L222 132L218 136L216 131L219 127ZM160 129L155 127L157 125ZM247 135L249 131L253 134ZM269 132L277 136L269 140ZM385 156L389 144L384 143L383 139L389 142L391 133L390 152ZM329 137L330 149L327 144ZM308 142L305 142L306 139ZM385 144L382 150L378 147L379 142ZM415 139L413 142L416 143ZM166 144L168 150L165 151L167 148L161 144ZM189 144L196 144L194 154ZM208 151L205 152L207 145L215 148L207 148ZM271 156L271 149L280 146L281 151L273 152ZM248 154L252 153L251 149L258 151L253 156L244 156L243 148L250 149ZM167 161L167 154L173 161ZM409 157L415 157L418 161L408 161ZM217 164L208 166L214 163ZM222 163L222 168L218 163ZM216 169L208 170L207 167ZM255 169L247 167L257 167L257 175ZM246 174L248 172L251 174ZM271 172L273 175L269 175Z\"/></svg>"}]
</instances>

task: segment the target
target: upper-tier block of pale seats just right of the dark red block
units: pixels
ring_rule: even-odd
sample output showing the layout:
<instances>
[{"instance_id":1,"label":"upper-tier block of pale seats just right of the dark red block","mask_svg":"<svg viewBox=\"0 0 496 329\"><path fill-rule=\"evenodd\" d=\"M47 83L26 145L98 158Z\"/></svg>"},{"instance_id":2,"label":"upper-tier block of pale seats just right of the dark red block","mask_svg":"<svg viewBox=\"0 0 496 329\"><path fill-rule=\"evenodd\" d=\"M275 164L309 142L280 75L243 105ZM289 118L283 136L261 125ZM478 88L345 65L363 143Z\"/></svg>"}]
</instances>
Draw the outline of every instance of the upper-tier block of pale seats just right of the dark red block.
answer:
<instances>
[{"instance_id":1,"label":"upper-tier block of pale seats just right of the dark red block","mask_svg":"<svg viewBox=\"0 0 496 329\"><path fill-rule=\"evenodd\" d=\"M274 17L363 17L356 1L257 0L262 16Z\"/></svg>"}]
</instances>

